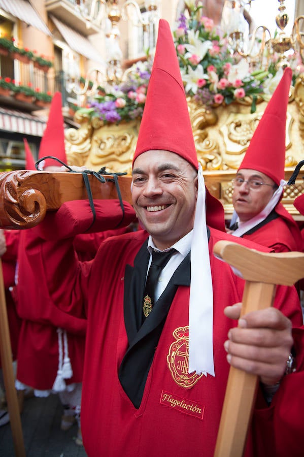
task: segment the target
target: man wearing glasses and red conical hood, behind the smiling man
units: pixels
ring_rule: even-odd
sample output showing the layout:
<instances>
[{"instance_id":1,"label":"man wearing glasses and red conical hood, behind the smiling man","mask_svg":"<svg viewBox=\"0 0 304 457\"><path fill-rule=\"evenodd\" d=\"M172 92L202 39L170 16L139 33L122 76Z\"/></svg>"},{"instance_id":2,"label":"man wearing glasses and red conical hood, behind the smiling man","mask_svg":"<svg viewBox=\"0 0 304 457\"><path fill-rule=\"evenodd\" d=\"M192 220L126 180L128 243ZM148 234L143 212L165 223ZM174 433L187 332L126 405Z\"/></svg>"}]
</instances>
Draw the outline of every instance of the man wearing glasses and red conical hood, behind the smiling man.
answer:
<instances>
[{"instance_id":1,"label":"man wearing glasses and red conical hood, behind the smiling man","mask_svg":"<svg viewBox=\"0 0 304 457\"><path fill-rule=\"evenodd\" d=\"M286 69L232 180L234 213L228 232L276 252L302 250L299 228L280 203L286 184L285 124L290 81L291 71Z\"/></svg>"}]
</instances>

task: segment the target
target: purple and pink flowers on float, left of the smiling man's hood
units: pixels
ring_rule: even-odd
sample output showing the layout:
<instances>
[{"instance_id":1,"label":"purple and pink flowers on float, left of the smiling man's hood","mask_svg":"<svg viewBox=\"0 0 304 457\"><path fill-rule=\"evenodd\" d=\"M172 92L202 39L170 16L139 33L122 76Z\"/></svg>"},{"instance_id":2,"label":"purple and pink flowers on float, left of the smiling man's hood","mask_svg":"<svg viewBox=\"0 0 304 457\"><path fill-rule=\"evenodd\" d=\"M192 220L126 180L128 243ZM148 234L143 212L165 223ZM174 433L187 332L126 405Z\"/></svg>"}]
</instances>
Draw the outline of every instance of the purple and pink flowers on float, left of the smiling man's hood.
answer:
<instances>
[{"instance_id":1,"label":"purple and pink flowers on float, left of the smiling man's hood","mask_svg":"<svg viewBox=\"0 0 304 457\"><path fill-rule=\"evenodd\" d=\"M148 82L151 75L151 60L134 63L119 85L98 86L99 95L88 108L79 113L98 117L104 124L140 119L144 111Z\"/></svg>"}]
</instances>

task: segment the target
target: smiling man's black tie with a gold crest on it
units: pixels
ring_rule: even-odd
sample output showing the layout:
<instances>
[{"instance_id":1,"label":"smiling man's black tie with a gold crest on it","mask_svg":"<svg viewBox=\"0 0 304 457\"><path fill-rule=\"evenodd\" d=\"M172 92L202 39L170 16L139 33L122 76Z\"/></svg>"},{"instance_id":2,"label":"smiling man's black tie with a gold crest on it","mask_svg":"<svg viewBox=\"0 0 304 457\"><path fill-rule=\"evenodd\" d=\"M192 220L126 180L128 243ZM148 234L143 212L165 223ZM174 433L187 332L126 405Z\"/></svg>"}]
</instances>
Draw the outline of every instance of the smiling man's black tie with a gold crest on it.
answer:
<instances>
[{"instance_id":1,"label":"smiling man's black tie with a gold crest on it","mask_svg":"<svg viewBox=\"0 0 304 457\"><path fill-rule=\"evenodd\" d=\"M144 292L143 311L145 317L149 316L155 304L154 292L160 272L166 266L174 252L176 252L175 249L170 249L166 252L159 252L153 250L152 252L152 263L149 268Z\"/></svg>"}]
</instances>

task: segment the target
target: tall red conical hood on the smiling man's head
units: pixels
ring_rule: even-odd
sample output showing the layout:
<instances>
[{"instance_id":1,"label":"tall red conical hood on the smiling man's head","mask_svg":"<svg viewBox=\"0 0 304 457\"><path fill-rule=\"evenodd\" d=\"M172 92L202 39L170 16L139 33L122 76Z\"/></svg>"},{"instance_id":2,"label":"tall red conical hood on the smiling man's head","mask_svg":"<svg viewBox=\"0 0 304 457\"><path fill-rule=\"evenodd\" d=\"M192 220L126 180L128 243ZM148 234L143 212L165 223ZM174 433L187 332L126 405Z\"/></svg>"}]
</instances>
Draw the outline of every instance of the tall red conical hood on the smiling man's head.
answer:
<instances>
[{"instance_id":1,"label":"tall red conical hood on the smiling man's head","mask_svg":"<svg viewBox=\"0 0 304 457\"><path fill-rule=\"evenodd\" d=\"M178 58L167 21L160 19L155 57L134 160L148 150L175 152L198 169Z\"/></svg>"}]
</instances>

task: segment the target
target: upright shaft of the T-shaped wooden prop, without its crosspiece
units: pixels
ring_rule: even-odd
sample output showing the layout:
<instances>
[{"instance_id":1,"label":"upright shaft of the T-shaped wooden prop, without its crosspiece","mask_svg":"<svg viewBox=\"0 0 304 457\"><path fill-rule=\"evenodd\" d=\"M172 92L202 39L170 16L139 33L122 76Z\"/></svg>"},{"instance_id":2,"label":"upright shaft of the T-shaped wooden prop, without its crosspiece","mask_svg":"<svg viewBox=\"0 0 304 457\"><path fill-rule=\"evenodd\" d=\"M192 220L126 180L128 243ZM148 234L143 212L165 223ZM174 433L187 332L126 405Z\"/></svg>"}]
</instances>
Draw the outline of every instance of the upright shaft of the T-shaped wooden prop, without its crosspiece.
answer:
<instances>
[{"instance_id":1,"label":"upright shaft of the T-shaped wooden prop, without its crosspiece","mask_svg":"<svg viewBox=\"0 0 304 457\"><path fill-rule=\"evenodd\" d=\"M247 281L241 315L273 304L274 284ZM258 377L230 367L214 457L242 457L256 398Z\"/></svg>"}]
</instances>

